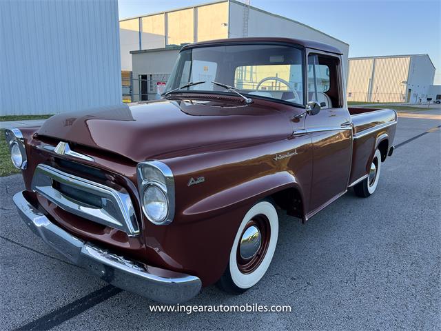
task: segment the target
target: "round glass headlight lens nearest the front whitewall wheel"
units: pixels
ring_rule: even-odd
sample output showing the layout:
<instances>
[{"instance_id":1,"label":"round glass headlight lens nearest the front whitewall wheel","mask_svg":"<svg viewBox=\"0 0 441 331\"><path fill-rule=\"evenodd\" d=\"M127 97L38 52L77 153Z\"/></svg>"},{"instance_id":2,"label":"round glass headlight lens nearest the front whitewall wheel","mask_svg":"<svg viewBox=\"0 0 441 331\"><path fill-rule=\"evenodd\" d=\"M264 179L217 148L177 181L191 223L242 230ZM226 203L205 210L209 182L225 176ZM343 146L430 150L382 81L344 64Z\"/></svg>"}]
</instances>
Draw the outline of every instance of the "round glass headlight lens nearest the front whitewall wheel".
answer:
<instances>
[{"instance_id":1,"label":"round glass headlight lens nearest the front whitewall wheel","mask_svg":"<svg viewBox=\"0 0 441 331\"><path fill-rule=\"evenodd\" d=\"M161 223L168 213L167 197L156 185L148 186L144 191L143 207L145 214L153 223Z\"/></svg>"}]
</instances>

